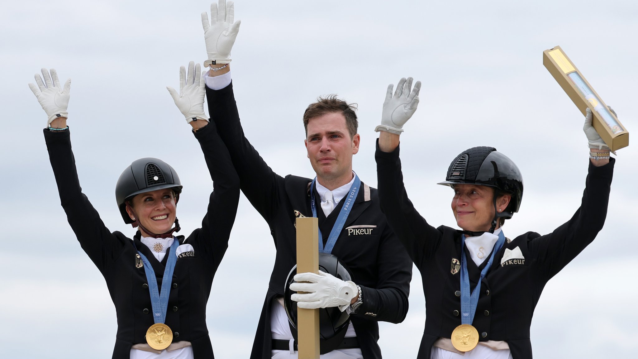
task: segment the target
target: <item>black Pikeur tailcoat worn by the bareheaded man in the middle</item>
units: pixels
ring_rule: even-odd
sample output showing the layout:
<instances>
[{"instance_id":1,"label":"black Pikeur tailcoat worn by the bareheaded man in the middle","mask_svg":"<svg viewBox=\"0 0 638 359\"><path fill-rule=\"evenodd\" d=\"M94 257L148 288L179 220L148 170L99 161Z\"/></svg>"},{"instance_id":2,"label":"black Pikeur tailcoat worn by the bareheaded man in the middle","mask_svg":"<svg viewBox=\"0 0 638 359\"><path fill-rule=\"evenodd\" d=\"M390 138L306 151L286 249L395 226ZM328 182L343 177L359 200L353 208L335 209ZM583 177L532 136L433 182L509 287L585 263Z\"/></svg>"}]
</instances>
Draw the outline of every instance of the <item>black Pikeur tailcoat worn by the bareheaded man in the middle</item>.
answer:
<instances>
[{"instance_id":1,"label":"black Pikeur tailcoat worn by the bareheaded man in the middle","mask_svg":"<svg viewBox=\"0 0 638 359\"><path fill-rule=\"evenodd\" d=\"M271 358L270 305L273 298L283 295L286 277L296 264L295 213L312 217L309 183L311 179L274 173L251 146L239 121L232 84L220 90L206 89L209 114L216 121L219 135L226 143L241 189L262 215L271 229L277 248L269 290L263 303L251 358ZM318 200L318 195L316 194ZM342 204L342 203L341 203ZM341 209L325 218L317 211L323 241L330 234ZM367 228L371 231L348 231ZM348 228L351 227L351 228ZM359 234L359 233L367 234ZM403 246L390 231L379 208L375 188L364 183L357 194L350 216L332 254L343 261L359 284L364 303L351 316L364 358L381 358L377 344L377 321L400 323L408 311L408 291L412 278L412 263Z\"/></svg>"}]
</instances>

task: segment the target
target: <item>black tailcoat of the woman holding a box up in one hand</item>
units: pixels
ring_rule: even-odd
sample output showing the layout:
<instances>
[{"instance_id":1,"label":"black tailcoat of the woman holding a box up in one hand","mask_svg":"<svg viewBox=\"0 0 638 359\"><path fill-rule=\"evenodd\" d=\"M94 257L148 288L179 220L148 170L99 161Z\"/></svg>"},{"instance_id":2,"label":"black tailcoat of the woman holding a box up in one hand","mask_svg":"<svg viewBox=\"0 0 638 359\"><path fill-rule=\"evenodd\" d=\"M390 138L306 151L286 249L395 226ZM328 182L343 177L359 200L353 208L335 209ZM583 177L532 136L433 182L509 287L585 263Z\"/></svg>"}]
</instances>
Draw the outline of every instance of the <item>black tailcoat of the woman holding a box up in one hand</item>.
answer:
<instances>
[{"instance_id":1,"label":"black tailcoat of the woman holding a box up in one hand","mask_svg":"<svg viewBox=\"0 0 638 359\"><path fill-rule=\"evenodd\" d=\"M429 359L434 342L440 337L450 338L452 330L461 325L461 297L456 295L461 289L461 272L455 266L461 260L461 234L445 225L434 228L415 210L403 185L398 147L385 153L377 146L376 164L383 211L422 275L426 327L417 358ZM541 236L528 232L507 240L495 254L481 282L472 323L480 341L505 340L514 359L531 359L531 317L540 293L545 283L602 229L613 169L614 158L601 167L590 164L581 207L574 217L553 233ZM501 263L505 250L516 248L524 259ZM486 262L477 268L474 261L467 261L471 289Z\"/></svg>"}]
</instances>

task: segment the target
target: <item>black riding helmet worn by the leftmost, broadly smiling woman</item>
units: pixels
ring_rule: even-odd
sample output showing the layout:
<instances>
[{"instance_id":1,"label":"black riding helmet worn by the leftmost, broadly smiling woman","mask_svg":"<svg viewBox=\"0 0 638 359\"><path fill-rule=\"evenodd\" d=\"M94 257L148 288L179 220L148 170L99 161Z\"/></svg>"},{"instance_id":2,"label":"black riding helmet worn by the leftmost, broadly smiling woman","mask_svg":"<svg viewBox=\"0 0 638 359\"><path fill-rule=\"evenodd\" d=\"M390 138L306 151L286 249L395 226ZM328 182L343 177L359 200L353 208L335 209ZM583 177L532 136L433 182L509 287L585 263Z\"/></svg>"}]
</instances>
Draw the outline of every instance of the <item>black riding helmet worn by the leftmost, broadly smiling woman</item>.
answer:
<instances>
[{"instance_id":1,"label":"black riding helmet worn by the leftmost, broadly smiling woman","mask_svg":"<svg viewBox=\"0 0 638 359\"><path fill-rule=\"evenodd\" d=\"M177 172L163 160L158 158L140 158L133 161L117 179L115 185L115 200L124 223L131 224L133 220L126 213L126 201L133 196L154 190L173 188L175 202L179 200L182 184Z\"/></svg>"}]
</instances>

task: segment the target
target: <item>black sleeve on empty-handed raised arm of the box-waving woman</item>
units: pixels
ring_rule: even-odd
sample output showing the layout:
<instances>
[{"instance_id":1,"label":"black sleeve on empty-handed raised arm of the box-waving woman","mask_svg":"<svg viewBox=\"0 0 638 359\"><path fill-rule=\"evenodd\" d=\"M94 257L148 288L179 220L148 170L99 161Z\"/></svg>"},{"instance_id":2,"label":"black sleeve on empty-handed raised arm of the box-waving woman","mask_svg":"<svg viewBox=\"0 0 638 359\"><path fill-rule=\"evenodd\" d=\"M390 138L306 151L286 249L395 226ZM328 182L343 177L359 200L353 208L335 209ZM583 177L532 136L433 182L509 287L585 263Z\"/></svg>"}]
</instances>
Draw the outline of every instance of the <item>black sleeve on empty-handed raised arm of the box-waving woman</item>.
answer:
<instances>
[{"instance_id":1,"label":"black sleeve on empty-handed raised arm of the box-waving woman","mask_svg":"<svg viewBox=\"0 0 638 359\"><path fill-rule=\"evenodd\" d=\"M401 173L399 147L392 152L383 152L377 141L375 158L381 210L412 261L421 268L424 259L434 254L443 233L429 225L408 199Z\"/></svg>"}]
</instances>

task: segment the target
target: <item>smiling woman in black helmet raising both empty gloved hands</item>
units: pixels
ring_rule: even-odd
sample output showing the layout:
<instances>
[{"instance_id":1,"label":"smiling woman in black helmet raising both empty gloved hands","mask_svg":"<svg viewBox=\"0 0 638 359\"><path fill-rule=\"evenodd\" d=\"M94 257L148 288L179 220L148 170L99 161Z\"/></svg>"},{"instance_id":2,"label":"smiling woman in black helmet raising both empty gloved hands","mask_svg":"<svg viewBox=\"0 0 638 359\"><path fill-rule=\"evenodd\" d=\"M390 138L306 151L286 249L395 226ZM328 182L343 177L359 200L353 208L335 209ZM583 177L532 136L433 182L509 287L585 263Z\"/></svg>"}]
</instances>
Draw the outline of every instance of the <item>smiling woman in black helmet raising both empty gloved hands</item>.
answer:
<instances>
[{"instance_id":1,"label":"smiling woman in black helmet raising both empty gloved hands","mask_svg":"<svg viewBox=\"0 0 638 359\"><path fill-rule=\"evenodd\" d=\"M49 74L42 69L43 80L36 74L37 86L29 84L47 112L44 135L68 222L105 278L115 305L112 358L213 357L205 309L212 279L228 247L239 201L239 178L216 126L205 116L200 65L191 62L188 77L182 66L180 75L180 93L172 88L168 91L193 127L214 182L202 227L186 238L174 236L180 229L181 181L173 167L157 158L134 161L115 187L122 219L138 227L133 239L108 231L80 188L66 126L70 80L61 87L56 70Z\"/></svg>"}]
</instances>

